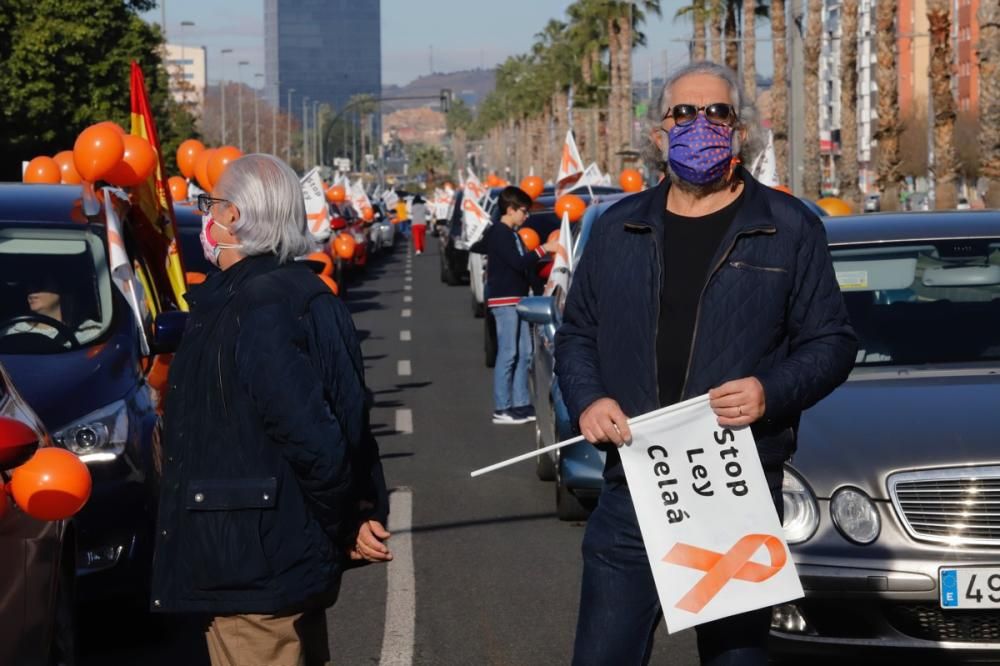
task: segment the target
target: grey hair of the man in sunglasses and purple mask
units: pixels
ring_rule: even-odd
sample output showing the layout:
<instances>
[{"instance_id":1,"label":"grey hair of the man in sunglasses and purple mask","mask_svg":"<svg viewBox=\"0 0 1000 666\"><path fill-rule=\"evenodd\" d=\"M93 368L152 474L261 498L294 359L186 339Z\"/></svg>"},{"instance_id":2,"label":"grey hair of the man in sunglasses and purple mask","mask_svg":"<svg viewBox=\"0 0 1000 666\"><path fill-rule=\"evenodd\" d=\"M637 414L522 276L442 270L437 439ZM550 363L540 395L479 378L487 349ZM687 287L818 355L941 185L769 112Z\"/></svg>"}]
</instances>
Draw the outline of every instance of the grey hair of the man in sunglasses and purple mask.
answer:
<instances>
[{"instance_id":1,"label":"grey hair of the man in sunglasses and purple mask","mask_svg":"<svg viewBox=\"0 0 1000 666\"><path fill-rule=\"evenodd\" d=\"M729 102L736 108L736 125L734 129L746 130L746 139L741 141L738 145L737 157L744 166L749 168L749 165L753 163L757 155L764 149L764 139L761 136L760 128L760 117L757 114L757 106L753 103L753 100L748 99L746 93L743 91L743 86L740 84L739 77L736 72L729 69L724 65L720 65L714 62L708 62L706 60L689 63L680 69L675 70L667 77L667 80L663 83L663 88L660 89L660 94L656 99L655 104L651 104L649 107L649 113L647 114L647 121L649 123L649 132L647 133L647 144L644 147L644 157L647 166L651 171L664 170L666 166L663 163L663 156L661 155L659 149L657 149L656 144L649 139L649 135L656 131L657 128L663 126L663 117L666 115L667 111L670 110L675 103L686 103L689 100L673 100L670 97L670 90L673 88L674 84L683 79L686 76L692 76L694 74L707 74L709 76L714 76L718 79L722 79L729 86ZM716 100L722 102L724 100Z\"/></svg>"}]
</instances>

